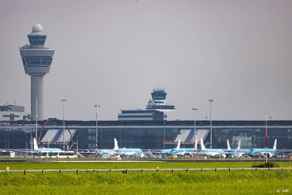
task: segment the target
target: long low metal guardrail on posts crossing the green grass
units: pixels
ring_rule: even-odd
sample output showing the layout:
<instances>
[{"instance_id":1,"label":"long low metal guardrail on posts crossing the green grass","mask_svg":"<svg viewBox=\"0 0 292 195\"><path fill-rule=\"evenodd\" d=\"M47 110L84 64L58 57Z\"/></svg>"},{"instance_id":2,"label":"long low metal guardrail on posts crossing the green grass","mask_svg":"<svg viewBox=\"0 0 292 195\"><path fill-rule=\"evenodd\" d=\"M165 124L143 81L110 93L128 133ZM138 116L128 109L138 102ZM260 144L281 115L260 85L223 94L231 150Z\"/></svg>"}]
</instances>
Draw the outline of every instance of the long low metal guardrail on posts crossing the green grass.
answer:
<instances>
[{"instance_id":1,"label":"long low metal guardrail on posts crossing the green grass","mask_svg":"<svg viewBox=\"0 0 292 195\"><path fill-rule=\"evenodd\" d=\"M292 168L190 168L190 169L45 169L45 170L0 170L0 173L15 173L15 172L23 172L25 175L27 172L42 172L43 174L45 172L76 172L79 174L79 172L112 172L112 171L122 171L123 173L128 173L128 171L141 171L142 173L144 171L171 171L174 173L174 171L206 171L206 170L213 170L217 172L218 170L228 170L231 172L232 170L292 170Z\"/></svg>"}]
</instances>

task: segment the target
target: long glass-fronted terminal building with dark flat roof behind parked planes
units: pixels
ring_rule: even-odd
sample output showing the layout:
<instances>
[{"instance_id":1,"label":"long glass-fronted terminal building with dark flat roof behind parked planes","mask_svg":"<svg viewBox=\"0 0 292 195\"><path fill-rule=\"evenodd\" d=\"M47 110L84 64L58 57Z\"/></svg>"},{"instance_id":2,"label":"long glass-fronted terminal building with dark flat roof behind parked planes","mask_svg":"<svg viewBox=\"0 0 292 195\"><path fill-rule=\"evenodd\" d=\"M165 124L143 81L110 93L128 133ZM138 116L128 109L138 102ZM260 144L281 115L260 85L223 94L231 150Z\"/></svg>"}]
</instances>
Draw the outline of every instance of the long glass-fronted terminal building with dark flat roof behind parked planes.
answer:
<instances>
[{"instance_id":1,"label":"long glass-fronted terminal building with dark flat roof behind parked planes","mask_svg":"<svg viewBox=\"0 0 292 195\"><path fill-rule=\"evenodd\" d=\"M165 123L164 123L165 122ZM42 125L38 121L39 147L62 149L63 123L52 120ZM164 125L165 124L165 125ZM65 149L95 149L96 121L65 121ZM35 121L0 121L0 149L30 148L35 135ZM292 121L267 121L268 148L277 139L277 149L292 149ZM41 132L42 131L42 132ZM239 140L243 149L265 147L265 121L212 121L213 148L227 148L227 139L232 148ZM165 137L165 139L164 139ZM196 121L196 139L203 138L210 146L210 121ZM142 150L194 147L194 121L98 121L98 149L114 148L114 138L119 147ZM199 147L199 144L198 144Z\"/></svg>"}]
</instances>

